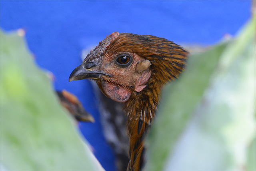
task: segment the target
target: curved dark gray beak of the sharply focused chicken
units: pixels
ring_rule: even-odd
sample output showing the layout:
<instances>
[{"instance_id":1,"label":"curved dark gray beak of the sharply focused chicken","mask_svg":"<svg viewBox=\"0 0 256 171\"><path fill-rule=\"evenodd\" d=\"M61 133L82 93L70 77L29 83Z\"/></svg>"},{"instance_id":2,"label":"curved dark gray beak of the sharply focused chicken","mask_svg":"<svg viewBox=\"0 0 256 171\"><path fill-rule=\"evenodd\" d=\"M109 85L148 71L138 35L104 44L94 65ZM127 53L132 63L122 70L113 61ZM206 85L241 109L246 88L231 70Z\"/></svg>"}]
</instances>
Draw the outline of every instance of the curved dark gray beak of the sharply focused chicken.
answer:
<instances>
[{"instance_id":1,"label":"curved dark gray beak of the sharply focused chicken","mask_svg":"<svg viewBox=\"0 0 256 171\"><path fill-rule=\"evenodd\" d=\"M84 66L84 63L82 63L70 74L68 81L71 82L73 80L102 79L101 76L112 77L111 74L106 74L102 71L87 70Z\"/></svg>"}]
</instances>

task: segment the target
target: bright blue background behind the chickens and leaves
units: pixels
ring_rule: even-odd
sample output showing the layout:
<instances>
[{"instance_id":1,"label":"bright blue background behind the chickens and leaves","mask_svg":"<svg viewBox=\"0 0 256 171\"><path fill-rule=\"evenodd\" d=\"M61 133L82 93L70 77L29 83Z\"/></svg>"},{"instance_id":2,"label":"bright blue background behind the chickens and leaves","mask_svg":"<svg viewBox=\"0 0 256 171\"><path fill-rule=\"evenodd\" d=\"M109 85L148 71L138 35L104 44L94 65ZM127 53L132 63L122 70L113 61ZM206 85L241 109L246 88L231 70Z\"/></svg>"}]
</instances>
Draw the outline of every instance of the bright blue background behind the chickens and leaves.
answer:
<instances>
[{"instance_id":1,"label":"bright blue background behind the chickens and leaves","mask_svg":"<svg viewBox=\"0 0 256 171\"><path fill-rule=\"evenodd\" d=\"M0 1L0 27L26 30L37 64L51 71L56 89L82 101L96 123L80 129L106 170L114 155L104 140L92 86L88 80L68 82L82 63L84 48L97 45L112 32L151 34L178 44L212 45L235 35L250 18L251 1Z\"/></svg>"}]
</instances>

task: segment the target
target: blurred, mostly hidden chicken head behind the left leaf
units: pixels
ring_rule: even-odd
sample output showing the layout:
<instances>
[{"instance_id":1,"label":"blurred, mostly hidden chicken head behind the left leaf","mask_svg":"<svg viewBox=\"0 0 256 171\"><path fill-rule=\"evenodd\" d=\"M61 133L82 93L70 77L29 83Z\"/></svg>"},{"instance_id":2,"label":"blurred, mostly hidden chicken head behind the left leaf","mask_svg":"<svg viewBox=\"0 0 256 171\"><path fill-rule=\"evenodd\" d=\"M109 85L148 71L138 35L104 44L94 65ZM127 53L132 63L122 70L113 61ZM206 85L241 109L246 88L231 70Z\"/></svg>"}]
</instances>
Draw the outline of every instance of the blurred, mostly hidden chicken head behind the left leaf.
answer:
<instances>
[{"instance_id":1,"label":"blurred, mostly hidden chicken head behind the left leaf","mask_svg":"<svg viewBox=\"0 0 256 171\"><path fill-rule=\"evenodd\" d=\"M76 121L84 122L94 122L94 118L87 111L84 110L84 107L72 93L62 90L56 91L60 104L68 110L70 115L72 115Z\"/></svg>"}]
</instances>

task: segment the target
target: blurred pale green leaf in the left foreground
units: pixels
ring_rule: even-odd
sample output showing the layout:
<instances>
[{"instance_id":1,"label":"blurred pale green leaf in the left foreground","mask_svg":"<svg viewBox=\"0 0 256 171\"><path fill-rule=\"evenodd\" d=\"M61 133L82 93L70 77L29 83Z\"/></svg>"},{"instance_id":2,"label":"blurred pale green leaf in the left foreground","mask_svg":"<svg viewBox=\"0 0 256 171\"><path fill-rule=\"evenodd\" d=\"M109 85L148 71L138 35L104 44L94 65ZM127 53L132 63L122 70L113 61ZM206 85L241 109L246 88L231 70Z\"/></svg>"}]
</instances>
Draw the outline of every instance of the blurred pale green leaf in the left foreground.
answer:
<instances>
[{"instance_id":1,"label":"blurred pale green leaf in the left foreground","mask_svg":"<svg viewBox=\"0 0 256 171\"><path fill-rule=\"evenodd\" d=\"M0 38L1 170L102 170L24 38Z\"/></svg>"}]
</instances>

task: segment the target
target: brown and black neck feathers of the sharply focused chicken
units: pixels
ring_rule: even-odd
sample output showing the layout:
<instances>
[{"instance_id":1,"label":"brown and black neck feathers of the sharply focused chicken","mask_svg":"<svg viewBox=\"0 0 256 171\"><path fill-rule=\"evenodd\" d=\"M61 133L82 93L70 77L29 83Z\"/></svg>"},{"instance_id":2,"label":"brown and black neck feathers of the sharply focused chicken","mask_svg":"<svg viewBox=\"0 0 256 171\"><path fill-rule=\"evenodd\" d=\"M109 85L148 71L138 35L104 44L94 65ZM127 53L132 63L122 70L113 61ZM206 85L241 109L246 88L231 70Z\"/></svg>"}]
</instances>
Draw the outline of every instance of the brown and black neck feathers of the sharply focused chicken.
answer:
<instances>
[{"instance_id":1,"label":"brown and black neck feathers of the sharply focused chicken","mask_svg":"<svg viewBox=\"0 0 256 171\"><path fill-rule=\"evenodd\" d=\"M130 163L127 170L139 171L142 167L143 140L154 118L161 92L160 83L153 80L154 78L150 78L147 87L142 91L134 91L124 105L130 137Z\"/></svg>"}]
</instances>

